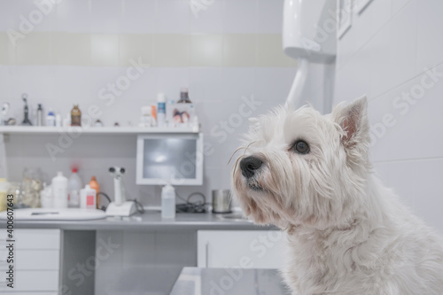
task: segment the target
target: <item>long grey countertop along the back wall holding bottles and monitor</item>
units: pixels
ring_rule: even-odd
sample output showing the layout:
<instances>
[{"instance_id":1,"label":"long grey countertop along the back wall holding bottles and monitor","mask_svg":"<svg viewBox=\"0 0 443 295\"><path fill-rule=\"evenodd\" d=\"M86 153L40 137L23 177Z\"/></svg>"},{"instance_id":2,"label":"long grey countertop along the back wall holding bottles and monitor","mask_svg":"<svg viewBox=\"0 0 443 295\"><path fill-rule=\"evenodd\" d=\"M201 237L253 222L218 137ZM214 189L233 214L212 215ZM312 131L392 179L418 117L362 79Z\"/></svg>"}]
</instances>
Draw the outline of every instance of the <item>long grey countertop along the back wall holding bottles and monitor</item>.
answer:
<instances>
[{"instance_id":1,"label":"long grey countertop along the back wall holding bottles and monitor","mask_svg":"<svg viewBox=\"0 0 443 295\"><path fill-rule=\"evenodd\" d=\"M0 229L6 221L0 221ZM160 213L147 212L131 217L108 217L95 221L14 221L14 229L66 229L66 230L268 230L274 226L258 226L251 221L221 219L213 213L176 213L175 220L162 220Z\"/></svg>"}]
</instances>

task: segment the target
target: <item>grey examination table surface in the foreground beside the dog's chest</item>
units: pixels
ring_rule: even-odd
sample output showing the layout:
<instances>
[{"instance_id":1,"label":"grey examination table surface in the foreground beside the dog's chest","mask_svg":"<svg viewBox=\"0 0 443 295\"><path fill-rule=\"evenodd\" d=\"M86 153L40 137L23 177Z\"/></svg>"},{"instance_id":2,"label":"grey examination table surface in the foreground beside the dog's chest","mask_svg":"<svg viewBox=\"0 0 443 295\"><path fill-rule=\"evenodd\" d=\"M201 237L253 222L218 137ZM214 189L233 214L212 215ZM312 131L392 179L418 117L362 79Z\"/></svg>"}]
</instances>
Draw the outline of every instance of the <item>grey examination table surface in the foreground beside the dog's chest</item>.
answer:
<instances>
[{"instance_id":1,"label":"grey examination table surface in the foreground beside the dog's chest","mask_svg":"<svg viewBox=\"0 0 443 295\"><path fill-rule=\"evenodd\" d=\"M290 294L276 269L183 268L170 295Z\"/></svg>"}]
</instances>

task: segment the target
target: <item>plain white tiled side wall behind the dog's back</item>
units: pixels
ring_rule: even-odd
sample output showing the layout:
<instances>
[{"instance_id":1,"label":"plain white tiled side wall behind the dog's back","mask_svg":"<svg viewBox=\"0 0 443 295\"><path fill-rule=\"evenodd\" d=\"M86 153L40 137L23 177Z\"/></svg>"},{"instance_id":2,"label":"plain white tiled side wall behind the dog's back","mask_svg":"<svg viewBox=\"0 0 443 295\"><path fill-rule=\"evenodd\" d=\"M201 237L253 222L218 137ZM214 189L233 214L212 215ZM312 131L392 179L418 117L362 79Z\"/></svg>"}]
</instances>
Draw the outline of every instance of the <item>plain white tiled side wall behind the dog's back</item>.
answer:
<instances>
[{"instance_id":1,"label":"plain white tiled side wall behind the dog's back","mask_svg":"<svg viewBox=\"0 0 443 295\"><path fill-rule=\"evenodd\" d=\"M354 15L338 42L334 103L369 96L377 171L416 214L443 230L440 12L439 0L373 0Z\"/></svg>"}]
</instances>

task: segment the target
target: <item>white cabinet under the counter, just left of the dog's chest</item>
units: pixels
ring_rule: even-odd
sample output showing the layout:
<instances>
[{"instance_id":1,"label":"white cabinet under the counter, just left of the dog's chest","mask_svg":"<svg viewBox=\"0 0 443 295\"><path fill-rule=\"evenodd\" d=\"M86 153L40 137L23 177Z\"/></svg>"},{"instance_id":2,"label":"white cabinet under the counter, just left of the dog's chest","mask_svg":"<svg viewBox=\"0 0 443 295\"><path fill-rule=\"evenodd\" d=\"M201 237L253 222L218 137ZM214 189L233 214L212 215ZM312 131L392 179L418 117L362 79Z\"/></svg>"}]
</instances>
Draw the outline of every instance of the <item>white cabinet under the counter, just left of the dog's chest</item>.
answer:
<instances>
[{"instance_id":1,"label":"white cabinet under the counter, just left of the dog's chest","mask_svg":"<svg viewBox=\"0 0 443 295\"><path fill-rule=\"evenodd\" d=\"M198 268L282 268L284 232L198 230Z\"/></svg>"}]
</instances>

